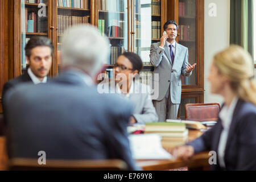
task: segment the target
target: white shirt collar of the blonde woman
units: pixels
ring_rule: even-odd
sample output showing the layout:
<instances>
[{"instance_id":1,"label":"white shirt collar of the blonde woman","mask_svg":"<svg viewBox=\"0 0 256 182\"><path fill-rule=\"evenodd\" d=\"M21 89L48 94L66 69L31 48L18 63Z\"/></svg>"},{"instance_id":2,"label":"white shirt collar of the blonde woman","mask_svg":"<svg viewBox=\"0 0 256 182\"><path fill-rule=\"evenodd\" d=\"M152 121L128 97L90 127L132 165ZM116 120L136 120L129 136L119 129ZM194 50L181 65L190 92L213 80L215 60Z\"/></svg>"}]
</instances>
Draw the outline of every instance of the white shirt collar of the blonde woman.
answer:
<instances>
[{"instance_id":1,"label":"white shirt collar of the blonde woman","mask_svg":"<svg viewBox=\"0 0 256 182\"><path fill-rule=\"evenodd\" d=\"M224 129L229 129L230 123L233 118L234 109L236 108L238 97L234 97L229 107L224 105L220 111L220 119Z\"/></svg>"}]
</instances>

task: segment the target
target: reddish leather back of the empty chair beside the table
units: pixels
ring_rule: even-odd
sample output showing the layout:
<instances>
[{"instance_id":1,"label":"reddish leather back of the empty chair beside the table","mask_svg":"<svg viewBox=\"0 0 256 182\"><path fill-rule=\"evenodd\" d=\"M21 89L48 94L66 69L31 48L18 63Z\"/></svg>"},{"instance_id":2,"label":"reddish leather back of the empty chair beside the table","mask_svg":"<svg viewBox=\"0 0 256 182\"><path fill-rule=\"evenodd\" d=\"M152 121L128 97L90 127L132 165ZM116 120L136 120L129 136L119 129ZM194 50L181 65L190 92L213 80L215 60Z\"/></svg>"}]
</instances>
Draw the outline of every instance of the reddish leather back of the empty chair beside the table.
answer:
<instances>
[{"instance_id":1,"label":"reddish leather back of the empty chair beside the table","mask_svg":"<svg viewBox=\"0 0 256 182\"><path fill-rule=\"evenodd\" d=\"M185 119L191 121L217 121L220 104L186 104Z\"/></svg>"}]
</instances>

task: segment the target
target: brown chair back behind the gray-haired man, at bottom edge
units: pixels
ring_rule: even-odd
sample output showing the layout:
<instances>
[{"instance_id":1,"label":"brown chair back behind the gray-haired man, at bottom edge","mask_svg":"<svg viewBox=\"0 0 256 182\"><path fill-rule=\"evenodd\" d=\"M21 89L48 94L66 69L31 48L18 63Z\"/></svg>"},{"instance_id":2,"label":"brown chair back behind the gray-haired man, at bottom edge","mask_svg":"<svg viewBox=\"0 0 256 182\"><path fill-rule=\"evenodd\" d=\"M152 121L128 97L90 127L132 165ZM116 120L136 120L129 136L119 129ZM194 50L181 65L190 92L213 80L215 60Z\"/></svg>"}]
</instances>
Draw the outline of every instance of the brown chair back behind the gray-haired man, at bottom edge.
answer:
<instances>
[{"instance_id":1,"label":"brown chair back behind the gray-haired man, at bottom edge","mask_svg":"<svg viewBox=\"0 0 256 182\"><path fill-rule=\"evenodd\" d=\"M38 159L14 158L9 162L10 171L123 171L127 164L120 159L106 160L52 160L39 165Z\"/></svg>"}]
</instances>

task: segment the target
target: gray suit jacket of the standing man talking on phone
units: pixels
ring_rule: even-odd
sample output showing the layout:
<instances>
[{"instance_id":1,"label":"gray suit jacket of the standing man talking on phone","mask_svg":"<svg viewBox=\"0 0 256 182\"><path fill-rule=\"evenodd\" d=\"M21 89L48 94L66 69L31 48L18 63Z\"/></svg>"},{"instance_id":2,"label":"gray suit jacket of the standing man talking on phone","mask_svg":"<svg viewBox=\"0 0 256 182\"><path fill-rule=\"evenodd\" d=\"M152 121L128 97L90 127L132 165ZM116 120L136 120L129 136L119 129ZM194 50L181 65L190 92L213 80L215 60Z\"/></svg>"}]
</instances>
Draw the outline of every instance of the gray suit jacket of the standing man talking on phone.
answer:
<instances>
[{"instance_id":1,"label":"gray suit jacket of the standing man talking on phone","mask_svg":"<svg viewBox=\"0 0 256 182\"><path fill-rule=\"evenodd\" d=\"M159 74L159 80L152 77L152 82L159 81L159 96L156 100L163 100L171 84L171 102L173 104L180 104L181 74L183 76L191 76L192 74L192 72L186 72L186 65L188 65L188 48L176 43L174 65L172 65L169 53L170 48L167 46L167 43L164 45L164 50L159 46L160 42L152 43L150 48L150 63L155 67L154 73Z\"/></svg>"}]
</instances>

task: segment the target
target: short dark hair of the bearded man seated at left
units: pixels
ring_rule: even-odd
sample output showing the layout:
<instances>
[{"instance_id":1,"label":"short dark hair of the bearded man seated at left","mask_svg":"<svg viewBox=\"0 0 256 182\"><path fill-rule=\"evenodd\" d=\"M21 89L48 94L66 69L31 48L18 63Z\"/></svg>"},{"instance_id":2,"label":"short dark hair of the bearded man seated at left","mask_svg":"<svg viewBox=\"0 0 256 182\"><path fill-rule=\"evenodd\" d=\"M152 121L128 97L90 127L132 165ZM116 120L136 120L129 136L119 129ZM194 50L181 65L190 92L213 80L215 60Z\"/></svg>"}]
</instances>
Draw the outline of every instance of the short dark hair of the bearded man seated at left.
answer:
<instances>
[{"instance_id":1,"label":"short dark hair of the bearded man seated at left","mask_svg":"<svg viewBox=\"0 0 256 182\"><path fill-rule=\"evenodd\" d=\"M26 56L31 56L31 50L38 46L47 46L51 48L51 55L53 54L53 46L50 39L43 36L35 36L28 40L27 45L25 47Z\"/></svg>"}]
</instances>

